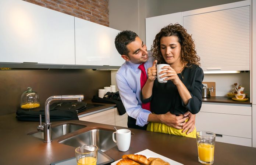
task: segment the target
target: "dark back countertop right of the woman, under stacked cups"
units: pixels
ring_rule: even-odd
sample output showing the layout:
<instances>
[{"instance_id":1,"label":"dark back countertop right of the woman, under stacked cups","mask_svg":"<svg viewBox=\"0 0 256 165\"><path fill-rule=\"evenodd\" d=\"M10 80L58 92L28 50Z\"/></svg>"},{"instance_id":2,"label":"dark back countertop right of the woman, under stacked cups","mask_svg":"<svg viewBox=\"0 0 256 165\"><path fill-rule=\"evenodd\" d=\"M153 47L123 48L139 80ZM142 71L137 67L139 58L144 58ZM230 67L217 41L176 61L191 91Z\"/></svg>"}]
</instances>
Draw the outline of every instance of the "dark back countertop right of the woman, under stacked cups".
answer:
<instances>
[{"instance_id":1,"label":"dark back countertop right of the woman, under stacked cups","mask_svg":"<svg viewBox=\"0 0 256 165\"><path fill-rule=\"evenodd\" d=\"M246 102L238 102L226 96L211 96L210 98L203 98L202 101L213 102L213 103L231 103L231 104L249 104L249 105L252 104L250 103L250 98Z\"/></svg>"}]
</instances>

